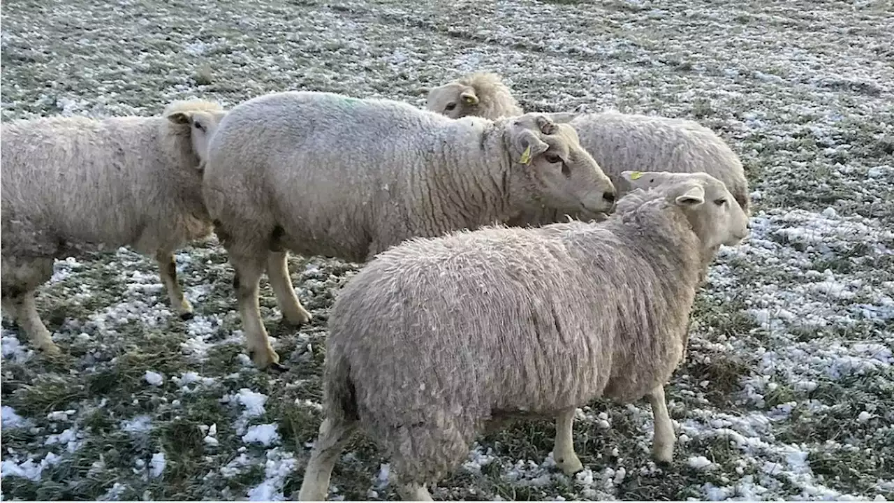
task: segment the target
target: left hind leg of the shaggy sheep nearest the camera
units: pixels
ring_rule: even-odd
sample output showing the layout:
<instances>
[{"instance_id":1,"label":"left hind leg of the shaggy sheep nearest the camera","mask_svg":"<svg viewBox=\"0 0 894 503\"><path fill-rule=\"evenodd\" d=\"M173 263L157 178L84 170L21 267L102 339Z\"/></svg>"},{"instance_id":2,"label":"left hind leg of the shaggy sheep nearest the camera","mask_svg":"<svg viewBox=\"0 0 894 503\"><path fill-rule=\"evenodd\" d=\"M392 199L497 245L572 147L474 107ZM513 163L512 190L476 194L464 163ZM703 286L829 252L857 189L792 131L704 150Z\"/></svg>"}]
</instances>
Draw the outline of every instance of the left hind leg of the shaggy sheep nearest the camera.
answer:
<instances>
[{"instance_id":1,"label":"left hind leg of the shaggy sheep nearest the camera","mask_svg":"<svg viewBox=\"0 0 894 503\"><path fill-rule=\"evenodd\" d=\"M310 453L308 467L298 493L299 501L323 501L329 494L329 479L335 462L342 454L344 446L354 431L351 423L326 418L320 424L314 449Z\"/></svg>"}]
</instances>

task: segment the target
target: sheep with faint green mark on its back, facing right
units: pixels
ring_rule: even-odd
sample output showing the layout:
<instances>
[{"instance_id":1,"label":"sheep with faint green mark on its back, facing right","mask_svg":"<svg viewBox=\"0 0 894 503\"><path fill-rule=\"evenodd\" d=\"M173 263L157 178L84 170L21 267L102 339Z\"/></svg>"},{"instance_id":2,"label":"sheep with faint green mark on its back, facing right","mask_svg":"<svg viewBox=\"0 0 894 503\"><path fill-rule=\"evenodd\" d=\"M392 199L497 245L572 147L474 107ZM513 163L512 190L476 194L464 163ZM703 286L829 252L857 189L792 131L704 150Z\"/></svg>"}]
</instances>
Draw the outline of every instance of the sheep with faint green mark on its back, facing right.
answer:
<instances>
[{"instance_id":1,"label":"sheep with faint green mark on its back, facing right","mask_svg":"<svg viewBox=\"0 0 894 503\"><path fill-rule=\"evenodd\" d=\"M363 262L416 235L502 222L528 206L610 212L614 187L574 129L544 115L454 121L387 99L285 91L233 107L208 148L215 232L235 270L246 344L282 371L258 312L265 269L283 320L310 314L287 252Z\"/></svg>"}]
</instances>

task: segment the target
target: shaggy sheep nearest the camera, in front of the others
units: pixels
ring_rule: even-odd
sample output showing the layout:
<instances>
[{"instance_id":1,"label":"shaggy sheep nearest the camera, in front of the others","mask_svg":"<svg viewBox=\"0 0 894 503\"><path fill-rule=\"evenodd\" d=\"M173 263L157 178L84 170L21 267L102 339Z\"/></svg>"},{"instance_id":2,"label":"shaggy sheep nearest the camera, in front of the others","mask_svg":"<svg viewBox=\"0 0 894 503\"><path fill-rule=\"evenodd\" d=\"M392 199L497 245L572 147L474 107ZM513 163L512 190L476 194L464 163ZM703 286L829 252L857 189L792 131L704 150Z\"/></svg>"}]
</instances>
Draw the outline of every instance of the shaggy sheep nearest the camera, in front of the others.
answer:
<instances>
[{"instance_id":1,"label":"shaggy sheep nearest the camera, in front of the others","mask_svg":"<svg viewBox=\"0 0 894 503\"><path fill-rule=\"evenodd\" d=\"M553 456L573 474L574 413L598 396L647 396L653 456L670 461L663 383L700 276L748 220L711 175L622 176L637 190L603 222L411 239L352 277L329 314L325 419L299 499L325 499L358 428L390 457L403 499L431 499L426 485L477 434L516 417L555 416Z\"/></svg>"}]
</instances>

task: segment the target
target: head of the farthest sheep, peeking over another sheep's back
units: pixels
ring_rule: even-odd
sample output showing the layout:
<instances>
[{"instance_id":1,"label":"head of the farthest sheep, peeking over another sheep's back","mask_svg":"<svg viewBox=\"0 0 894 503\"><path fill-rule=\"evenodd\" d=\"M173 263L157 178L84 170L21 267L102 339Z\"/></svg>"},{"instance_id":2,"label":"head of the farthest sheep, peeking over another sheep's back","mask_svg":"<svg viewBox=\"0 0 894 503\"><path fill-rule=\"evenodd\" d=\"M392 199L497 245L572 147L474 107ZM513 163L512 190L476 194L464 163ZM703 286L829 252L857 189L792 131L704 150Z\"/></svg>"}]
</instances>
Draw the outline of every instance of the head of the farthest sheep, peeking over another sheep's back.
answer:
<instances>
[{"instance_id":1,"label":"head of the farthest sheep, peeking over another sheep's back","mask_svg":"<svg viewBox=\"0 0 894 503\"><path fill-rule=\"evenodd\" d=\"M470 73L428 91L426 110L459 119L467 115L496 119L521 115L512 92L492 72Z\"/></svg>"}]
</instances>

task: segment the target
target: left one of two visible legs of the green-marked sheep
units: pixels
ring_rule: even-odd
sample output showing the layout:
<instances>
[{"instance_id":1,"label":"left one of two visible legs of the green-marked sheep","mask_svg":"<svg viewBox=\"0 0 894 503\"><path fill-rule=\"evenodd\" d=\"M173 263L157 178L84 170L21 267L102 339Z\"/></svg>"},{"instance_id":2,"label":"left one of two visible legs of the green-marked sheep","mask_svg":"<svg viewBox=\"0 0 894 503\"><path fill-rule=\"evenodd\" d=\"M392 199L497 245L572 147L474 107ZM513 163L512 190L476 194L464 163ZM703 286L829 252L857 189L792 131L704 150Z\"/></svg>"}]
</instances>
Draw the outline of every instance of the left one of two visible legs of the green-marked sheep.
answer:
<instances>
[{"instance_id":1,"label":"left one of two visible legs of the green-marked sheep","mask_svg":"<svg viewBox=\"0 0 894 503\"><path fill-rule=\"evenodd\" d=\"M270 345L270 337L267 337L267 330L261 320L258 284L261 272L264 270L264 260L266 260L266 256L263 254L259 260L257 257L240 257L231 254L230 263L235 269L232 286L236 290L242 331L245 332L245 342L251 361L255 362L259 369L271 367L277 371L284 371L285 367L280 365L279 354L276 354L273 345Z\"/></svg>"}]
</instances>

